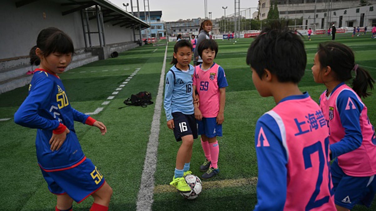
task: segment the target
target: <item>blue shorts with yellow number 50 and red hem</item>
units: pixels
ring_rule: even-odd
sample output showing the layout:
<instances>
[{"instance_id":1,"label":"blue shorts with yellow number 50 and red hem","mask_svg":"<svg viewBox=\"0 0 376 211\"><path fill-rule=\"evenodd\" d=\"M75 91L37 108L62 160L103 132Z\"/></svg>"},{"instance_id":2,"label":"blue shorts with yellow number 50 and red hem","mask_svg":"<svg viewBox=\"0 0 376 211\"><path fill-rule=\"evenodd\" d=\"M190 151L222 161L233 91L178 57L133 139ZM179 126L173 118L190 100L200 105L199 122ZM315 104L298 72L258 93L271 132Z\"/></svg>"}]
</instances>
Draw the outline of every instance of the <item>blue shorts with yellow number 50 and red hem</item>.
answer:
<instances>
[{"instance_id":1,"label":"blue shorts with yellow number 50 and red hem","mask_svg":"<svg viewBox=\"0 0 376 211\"><path fill-rule=\"evenodd\" d=\"M77 203L82 202L105 184L105 178L89 158L71 169L45 170L41 168L41 170L51 193L68 194Z\"/></svg>"}]
</instances>

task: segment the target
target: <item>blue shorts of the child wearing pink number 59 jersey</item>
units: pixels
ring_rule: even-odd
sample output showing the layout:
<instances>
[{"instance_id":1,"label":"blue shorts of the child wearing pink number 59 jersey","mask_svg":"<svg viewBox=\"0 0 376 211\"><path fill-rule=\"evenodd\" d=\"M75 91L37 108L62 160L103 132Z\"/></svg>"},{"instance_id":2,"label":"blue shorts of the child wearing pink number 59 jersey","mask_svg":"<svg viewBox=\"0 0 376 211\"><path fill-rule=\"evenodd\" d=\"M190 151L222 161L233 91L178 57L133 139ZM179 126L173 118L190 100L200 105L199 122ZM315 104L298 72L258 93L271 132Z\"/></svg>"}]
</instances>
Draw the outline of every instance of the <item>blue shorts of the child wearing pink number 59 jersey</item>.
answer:
<instances>
[{"instance_id":1,"label":"blue shorts of the child wearing pink number 59 jersey","mask_svg":"<svg viewBox=\"0 0 376 211\"><path fill-rule=\"evenodd\" d=\"M199 135L205 135L208 138L222 136L222 125L217 124L217 118L203 117L202 120L197 120Z\"/></svg>"}]
</instances>

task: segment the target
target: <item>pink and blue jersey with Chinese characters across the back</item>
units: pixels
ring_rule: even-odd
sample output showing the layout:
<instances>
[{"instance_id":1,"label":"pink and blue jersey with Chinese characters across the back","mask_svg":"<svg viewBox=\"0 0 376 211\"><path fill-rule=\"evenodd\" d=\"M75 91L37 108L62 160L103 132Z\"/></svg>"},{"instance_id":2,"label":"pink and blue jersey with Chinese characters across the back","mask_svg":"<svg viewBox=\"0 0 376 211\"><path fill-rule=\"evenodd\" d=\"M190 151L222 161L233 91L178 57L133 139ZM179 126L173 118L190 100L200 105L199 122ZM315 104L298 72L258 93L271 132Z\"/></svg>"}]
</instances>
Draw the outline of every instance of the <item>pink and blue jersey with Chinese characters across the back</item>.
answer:
<instances>
[{"instance_id":1,"label":"pink and blue jersey with Chinese characters across the back","mask_svg":"<svg viewBox=\"0 0 376 211\"><path fill-rule=\"evenodd\" d=\"M283 210L335 210L328 136L320 107L308 93L283 99L258 120L255 139L259 205L255 210L281 210L280 206L269 205L276 197L284 196ZM262 191L266 186L269 191ZM276 189L281 191L278 196ZM265 209L263 203L269 208Z\"/></svg>"}]
</instances>

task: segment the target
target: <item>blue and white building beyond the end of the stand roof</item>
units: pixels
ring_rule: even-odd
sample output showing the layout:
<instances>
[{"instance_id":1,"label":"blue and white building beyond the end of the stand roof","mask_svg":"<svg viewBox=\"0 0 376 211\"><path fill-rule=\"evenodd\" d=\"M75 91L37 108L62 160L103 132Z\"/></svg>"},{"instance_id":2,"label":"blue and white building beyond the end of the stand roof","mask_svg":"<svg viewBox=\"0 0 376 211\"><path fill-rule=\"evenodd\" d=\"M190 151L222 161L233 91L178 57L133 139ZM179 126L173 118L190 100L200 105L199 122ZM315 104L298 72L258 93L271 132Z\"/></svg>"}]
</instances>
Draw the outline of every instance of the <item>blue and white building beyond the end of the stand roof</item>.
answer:
<instances>
[{"instance_id":1,"label":"blue and white building beyond the end of the stand roof","mask_svg":"<svg viewBox=\"0 0 376 211\"><path fill-rule=\"evenodd\" d=\"M137 12L133 12L133 14L137 17ZM164 21L162 21L162 11L150 11L150 20L149 20L149 12L140 11L140 19L149 23L150 21L150 28L144 29L141 31L142 38L148 38L149 32L151 37L164 37L165 35L165 27Z\"/></svg>"}]
</instances>

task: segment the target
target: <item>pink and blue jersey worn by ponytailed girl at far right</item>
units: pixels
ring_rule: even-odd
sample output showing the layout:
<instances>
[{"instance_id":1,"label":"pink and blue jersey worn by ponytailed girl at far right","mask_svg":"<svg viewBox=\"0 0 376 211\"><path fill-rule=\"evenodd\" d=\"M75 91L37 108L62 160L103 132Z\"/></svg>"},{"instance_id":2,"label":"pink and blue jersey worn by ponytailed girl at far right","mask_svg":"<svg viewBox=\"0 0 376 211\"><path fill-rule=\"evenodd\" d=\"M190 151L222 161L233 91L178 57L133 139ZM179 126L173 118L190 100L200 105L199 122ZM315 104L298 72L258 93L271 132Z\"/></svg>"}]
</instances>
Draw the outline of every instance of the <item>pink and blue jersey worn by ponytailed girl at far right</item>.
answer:
<instances>
[{"instance_id":1,"label":"pink and blue jersey worn by ponytailed girl at far right","mask_svg":"<svg viewBox=\"0 0 376 211\"><path fill-rule=\"evenodd\" d=\"M372 176L376 174L376 146L374 128L367 116L367 107L359 96L346 84L340 84L329 97L326 91L320 96L320 107L329 127L331 150L338 151L338 165L349 176ZM355 114L355 115L352 115ZM361 145L352 151L343 150L352 145L359 134ZM350 144L349 144L350 143ZM344 145L346 144L346 145ZM333 149L332 149L333 148Z\"/></svg>"}]
</instances>

